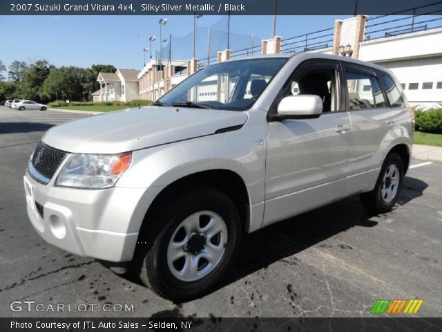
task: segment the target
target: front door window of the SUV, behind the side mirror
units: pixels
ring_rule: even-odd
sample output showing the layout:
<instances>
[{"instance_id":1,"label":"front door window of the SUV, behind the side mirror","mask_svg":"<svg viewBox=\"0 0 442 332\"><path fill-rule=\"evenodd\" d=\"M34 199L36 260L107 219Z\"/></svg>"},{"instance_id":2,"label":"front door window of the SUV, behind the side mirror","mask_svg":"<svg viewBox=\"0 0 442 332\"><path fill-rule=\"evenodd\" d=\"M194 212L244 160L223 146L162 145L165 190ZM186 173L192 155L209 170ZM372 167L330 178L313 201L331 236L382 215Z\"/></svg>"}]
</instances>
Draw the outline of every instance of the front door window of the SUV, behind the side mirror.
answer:
<instances>
[{"instance_id":1,"label":"front door window of the SUV, behind the side mirror","mask_svg":"<svg viewBox=\"0 0 442 332\"><path fill-rule=\"evenodd\" d=\"M318 95L323 100L323 112L337 110L336 86L338 73L334 66L307 65L292 77L283 97L290 95Z\"/></svg>"}]
</instances>

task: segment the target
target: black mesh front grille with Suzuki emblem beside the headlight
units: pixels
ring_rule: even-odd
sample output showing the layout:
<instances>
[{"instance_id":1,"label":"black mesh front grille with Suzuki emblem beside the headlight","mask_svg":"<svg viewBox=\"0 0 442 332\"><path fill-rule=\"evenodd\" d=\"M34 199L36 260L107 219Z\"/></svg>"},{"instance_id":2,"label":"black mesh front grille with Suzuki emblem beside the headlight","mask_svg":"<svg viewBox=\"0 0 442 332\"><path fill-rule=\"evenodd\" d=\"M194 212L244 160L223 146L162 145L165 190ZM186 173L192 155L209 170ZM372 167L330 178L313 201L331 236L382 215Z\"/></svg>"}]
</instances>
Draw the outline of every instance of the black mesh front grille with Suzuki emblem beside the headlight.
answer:
<instances>
[{"instance_id":1,"label":"black mesh front grille with Suzuki emblem beside the headlight","mask_svg":"<svg viewBox=\"0 0 442 332\"><path fill-rule=\"evenodd\" d=\"M64 156L66 152L39 142L32 156L32 166L45 178L50 179L54 176Z\"/></svg>"}]
</instances>

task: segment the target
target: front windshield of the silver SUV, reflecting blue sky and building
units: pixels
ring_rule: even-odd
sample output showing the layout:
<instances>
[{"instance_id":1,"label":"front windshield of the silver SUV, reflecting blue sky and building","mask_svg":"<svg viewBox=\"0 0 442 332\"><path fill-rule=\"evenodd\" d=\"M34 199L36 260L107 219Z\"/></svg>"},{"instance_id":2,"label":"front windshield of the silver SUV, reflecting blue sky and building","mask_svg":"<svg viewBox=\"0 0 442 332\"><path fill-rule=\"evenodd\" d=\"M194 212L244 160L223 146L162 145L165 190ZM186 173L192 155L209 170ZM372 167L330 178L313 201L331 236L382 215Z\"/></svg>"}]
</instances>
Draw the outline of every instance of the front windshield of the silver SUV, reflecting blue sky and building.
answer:
<instances>
[{"instance_id":1,"label":"front windshield of the silver SUV, reflecting blue sky and building","mask_svg":"<svg viewBox=\"0 0 442 332\"><path fill-rule=\"evenodd\" d=\"M221 62L191 75L154 104L244 111L253 106L287 58Z\"/></svg>"}]
</instances>

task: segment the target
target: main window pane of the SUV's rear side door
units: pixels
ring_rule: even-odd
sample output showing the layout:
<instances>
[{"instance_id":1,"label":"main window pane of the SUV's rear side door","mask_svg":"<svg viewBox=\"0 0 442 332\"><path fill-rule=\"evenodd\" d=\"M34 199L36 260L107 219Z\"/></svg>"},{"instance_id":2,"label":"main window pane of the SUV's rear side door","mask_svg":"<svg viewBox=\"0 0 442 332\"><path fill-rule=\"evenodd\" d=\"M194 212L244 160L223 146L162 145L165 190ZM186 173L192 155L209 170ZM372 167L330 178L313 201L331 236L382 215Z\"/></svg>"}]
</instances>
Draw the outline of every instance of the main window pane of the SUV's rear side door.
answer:
<instances>
[{"instance_id":1,"label":"main window pane of the SUV's rear side door","mask_svg":"<svg viewBox=\"0 0 442 332\"><path fill-rule=\"evenodd\" d=\"M375 86L372 86L372 75L352 71L352 69L347 68L345 71L345 80L347 82L350 110L374 109L376 107L374 100Z\"/></svg>"}]
</instances>

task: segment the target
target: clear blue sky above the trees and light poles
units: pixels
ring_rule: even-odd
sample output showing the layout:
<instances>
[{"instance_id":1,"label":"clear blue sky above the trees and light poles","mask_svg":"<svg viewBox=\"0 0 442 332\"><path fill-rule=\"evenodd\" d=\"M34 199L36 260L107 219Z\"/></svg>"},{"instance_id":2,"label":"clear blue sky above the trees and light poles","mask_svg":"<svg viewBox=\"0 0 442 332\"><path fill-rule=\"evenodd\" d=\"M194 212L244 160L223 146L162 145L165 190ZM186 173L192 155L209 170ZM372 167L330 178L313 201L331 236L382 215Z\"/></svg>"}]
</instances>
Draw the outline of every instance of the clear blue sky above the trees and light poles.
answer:
<instances>
[{"instance_id":1,"label":"clear blue sky above the trees and light poles","mask_svg":"<svg viewBox=\"0 0 442 332\"><path fill-rule=\"evenodd\" d=\"M278 16L276 33L288 38L323 28L332 28L335 19L348 16ZM113 64L117 68L142 69L143 48L149 48L148 36L157 40L159 48L160 16L0 16L0 60L6 67L15 59L34 62L46 59L55 66L88 67L92 64ZM162 37L172 35L179 41L173 53L187 59L191 55L193 17L170 16L162 28ZM196 48L202 53L206 34L202 27L227 30L227 17L203 16L197 20ZM231 16L231 34L272 37L273 16ZM140 37L145 34L145 37ZM186 36L186 37L184 37ZM179 38L183 37L183 38ZM232 37L234 38L234 37ZM248 38L248 37L247 37ZM251 37L250 37L251 40ZM200 47L198 47L198 42ZM215 41L213 41L215 42ZM249 42L247 42L247 46ZM247 47L246 46L246 47ZM206 47L206 46L204 46ZM234 49L233 49L234 50ZM206 53L204 53L206 54ZM147 53L146 58L149 55ZM165 57L163 55L163 57Z\"/></svg>"}]
</instances>

